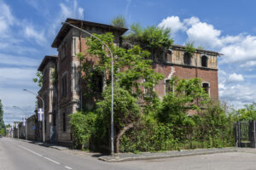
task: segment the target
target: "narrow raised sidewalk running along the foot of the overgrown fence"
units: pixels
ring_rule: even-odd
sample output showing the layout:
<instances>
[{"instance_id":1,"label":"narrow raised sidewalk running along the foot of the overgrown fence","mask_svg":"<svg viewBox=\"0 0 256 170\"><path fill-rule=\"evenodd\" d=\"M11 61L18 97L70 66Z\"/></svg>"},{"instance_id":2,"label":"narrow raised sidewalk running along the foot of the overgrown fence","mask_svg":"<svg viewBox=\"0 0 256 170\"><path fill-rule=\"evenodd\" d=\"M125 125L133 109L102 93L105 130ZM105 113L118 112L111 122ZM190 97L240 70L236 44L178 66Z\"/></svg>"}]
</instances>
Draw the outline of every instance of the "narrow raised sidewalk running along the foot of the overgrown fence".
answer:
<instances>
[{"instance_id":1,"label":"narrow raised sidewalk running along the foot of the overgrown fence","mask_svg":"<svg viewBox=\"0 0 256 170\"><path fill-rule=\"evenodd\" d=\"M119 153L117 156L101 156L99 160L108 162L119 162L119 161L135 161L135 160L150 160L150 159L162 159L170 157L180 157L180 156L198 156L206 154L215 153L225 153L225 152L236 152L236 148L213 148L213 149L199 149L199 150L172 150L165 152L143 152L140 154L133 153Z\"/></svg>"}]
</instances>

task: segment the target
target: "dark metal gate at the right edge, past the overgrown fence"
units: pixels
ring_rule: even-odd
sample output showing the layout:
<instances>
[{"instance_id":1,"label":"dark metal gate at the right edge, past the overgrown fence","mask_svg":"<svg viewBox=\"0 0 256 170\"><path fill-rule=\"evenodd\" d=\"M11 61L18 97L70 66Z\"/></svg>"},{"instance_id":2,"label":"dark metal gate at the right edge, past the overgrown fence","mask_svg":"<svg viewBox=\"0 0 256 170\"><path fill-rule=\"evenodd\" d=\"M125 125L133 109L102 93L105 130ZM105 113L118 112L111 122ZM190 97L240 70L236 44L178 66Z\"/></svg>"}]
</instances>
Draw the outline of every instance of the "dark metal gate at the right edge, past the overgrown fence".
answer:
<instances>
[{"instance_id":1,"label":"dark metal gate at the right edge, past the overgrown fence","mask_svg":"<svg viewBox=\"0 0 256 170\"><path fill-rule=\"evenodd\" d=\"M234 124L236 147L256 148L256 122L239 121Z\"/></svg>"}]
</instances>

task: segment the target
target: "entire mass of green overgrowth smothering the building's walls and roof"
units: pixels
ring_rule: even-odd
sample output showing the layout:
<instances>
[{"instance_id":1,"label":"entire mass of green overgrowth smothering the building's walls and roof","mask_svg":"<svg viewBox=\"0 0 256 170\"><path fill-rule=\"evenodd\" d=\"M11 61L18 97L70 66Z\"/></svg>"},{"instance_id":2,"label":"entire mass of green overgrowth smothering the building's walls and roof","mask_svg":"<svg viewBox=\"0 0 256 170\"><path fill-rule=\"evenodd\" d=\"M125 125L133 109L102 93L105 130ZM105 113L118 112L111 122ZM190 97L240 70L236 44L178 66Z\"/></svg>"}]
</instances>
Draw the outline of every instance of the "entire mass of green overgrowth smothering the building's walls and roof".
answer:
<instances>
[{"instance_id":1,"label":"entire mass of green overgrowth smothering the building's walls and roof","mask_svg":"<svg viewBox=\"0 0 256 170\"><path fill-rule=\"evenodd\" d=\"M95 35L113 52L115 151L156 151L224 147L233 144L232 120L218 103L212 103L201 80L172 77L163 100L154 93L164 77L152 69L150 52L172 45L170 31L134 26L130 48L113 44L110 33ZM135 43L134 43L135 42ZM111 58L94 37L87 39L83 63L83 111L71 116L77 146L108 150L111 108ZM143 48L141 48L142 46ZM193 52L193 47L188 51ZM93 57L96 56L96 59ZM95 62L96 60L96 62ZM189 115L188 115L189 113Z\"/></svg>"}]
</instances>

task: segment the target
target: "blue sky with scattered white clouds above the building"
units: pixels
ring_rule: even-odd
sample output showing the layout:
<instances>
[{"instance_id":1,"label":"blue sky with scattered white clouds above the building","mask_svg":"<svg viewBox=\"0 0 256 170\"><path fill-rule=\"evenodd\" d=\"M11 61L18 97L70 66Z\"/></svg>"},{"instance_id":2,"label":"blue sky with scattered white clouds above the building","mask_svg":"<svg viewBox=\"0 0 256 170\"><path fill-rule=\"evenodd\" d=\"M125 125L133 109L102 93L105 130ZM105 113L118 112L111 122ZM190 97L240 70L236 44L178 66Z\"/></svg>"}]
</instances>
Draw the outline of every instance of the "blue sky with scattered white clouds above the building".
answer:
<instances>
[{"instance_id":1,"label":"blue sky with scattered white clouds above the building","mask_svg":"<svg viewBox=\"0 0 256 170\"><path fill-rule=\"evenodd\" d=\"M234 107L256 101L256 1L226 0L0 0L0 99L4 121L33 114L32 82L50 45L70 18L108 24L123 14L128 25L166 26L177 44L224 54L218 59L219 99ZM13 105L24 111L16 110Z\"/></svg>"}]
</instances>

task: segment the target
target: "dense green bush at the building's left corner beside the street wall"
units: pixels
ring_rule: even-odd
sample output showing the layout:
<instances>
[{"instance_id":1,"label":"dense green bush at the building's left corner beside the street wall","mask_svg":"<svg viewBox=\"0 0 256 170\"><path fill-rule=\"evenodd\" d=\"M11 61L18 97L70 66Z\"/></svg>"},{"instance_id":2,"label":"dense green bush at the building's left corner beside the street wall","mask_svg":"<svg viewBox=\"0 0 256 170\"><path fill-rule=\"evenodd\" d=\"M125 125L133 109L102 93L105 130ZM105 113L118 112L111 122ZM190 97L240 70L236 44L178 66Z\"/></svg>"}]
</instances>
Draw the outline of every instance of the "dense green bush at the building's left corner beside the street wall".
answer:
<instances>
[{"instance_id":1,"label":"dense green bush at the building's left corner beside the street wall","mask_svg":"<svg viewBox=\"0 0 256 170\"><path fill-rule=\"evenodd\" d=\"M80 112L71 115L70 124L73 131L75 146L89 148L90 137L95 133L96 114L93 112Z\"/></svg>"}]
</instances>

